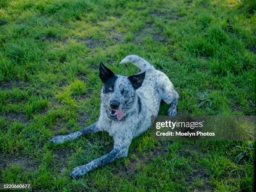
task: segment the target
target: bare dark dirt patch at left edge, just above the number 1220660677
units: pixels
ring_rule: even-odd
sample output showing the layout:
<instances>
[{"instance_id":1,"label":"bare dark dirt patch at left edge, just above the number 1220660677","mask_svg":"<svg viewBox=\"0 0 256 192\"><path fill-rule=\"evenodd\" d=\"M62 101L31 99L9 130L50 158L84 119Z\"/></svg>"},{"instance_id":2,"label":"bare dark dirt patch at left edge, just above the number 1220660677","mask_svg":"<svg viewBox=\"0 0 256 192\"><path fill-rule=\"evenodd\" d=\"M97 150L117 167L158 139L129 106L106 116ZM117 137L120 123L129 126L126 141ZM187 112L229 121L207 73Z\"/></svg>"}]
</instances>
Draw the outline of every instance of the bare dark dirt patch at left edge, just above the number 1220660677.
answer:
<instances>
[{"instance_id":1,"label":"bare dark dirt patch at left edge, just above the number 1220660677","mask_svg":"<svg viewBox=\"0 0 256 192\"><path fill-rule=\"evenodd\" d=\"M12 164L20 165L23 171L33 172L38 168L38 164L36 164L36 162L34 162L32 159L26 156L8 157L8 158L1 157L0 159L3 159L3 161L1 161L0 163L1 169L6 169L7 167L10 167Z\"/></svg>"}]
</instances>

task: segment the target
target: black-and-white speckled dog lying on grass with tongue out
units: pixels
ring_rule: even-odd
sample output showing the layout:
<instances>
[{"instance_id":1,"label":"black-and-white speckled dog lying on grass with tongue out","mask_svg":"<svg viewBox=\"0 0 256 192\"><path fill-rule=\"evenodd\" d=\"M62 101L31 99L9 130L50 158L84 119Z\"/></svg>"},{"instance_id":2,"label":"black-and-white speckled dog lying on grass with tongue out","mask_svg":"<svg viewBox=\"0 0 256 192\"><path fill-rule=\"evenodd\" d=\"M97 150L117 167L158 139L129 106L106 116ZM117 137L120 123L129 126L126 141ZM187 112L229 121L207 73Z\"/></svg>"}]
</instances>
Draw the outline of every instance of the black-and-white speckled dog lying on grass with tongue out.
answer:
<instances>
[{"instance_id":1,"label":"black-and-white speckled dog lying on grass with tongue out","mask_svg":"<svg viewBox=\"0 0 256 192\"><path fill-rule=\"evenodd\" d=\"M129 77L115 75L101 62L100 79L104 86L99 120L80 131L51 139L51 143L61 144L97 131L107 131L113 136L114 148L110 153L75 167L70 177L80 177L120 157L127 157L131 140L151 126L151 116L158 114L161 99L171 104L169 116L177 114L179 95L164 73L139 56L126 56L120 63L133 63L141 72Z\"/></svg>"}]
</instances>

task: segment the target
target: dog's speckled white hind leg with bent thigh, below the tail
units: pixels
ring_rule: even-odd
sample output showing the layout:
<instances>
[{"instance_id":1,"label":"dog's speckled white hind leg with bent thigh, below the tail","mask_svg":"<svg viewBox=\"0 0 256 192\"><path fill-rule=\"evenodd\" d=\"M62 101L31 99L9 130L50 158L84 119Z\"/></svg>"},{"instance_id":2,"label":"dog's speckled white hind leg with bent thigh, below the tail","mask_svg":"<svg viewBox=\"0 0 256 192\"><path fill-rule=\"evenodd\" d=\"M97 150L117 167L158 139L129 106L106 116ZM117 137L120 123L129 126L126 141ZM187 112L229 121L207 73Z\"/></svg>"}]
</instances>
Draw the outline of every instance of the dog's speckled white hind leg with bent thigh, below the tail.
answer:
<instances>
[{"instance_id":1,"label":"dog's speckled white hind leg with bent thigh, below the tail","mask_svg":"<svg viewBox=\"0 0 256 192\"><path fill-rule=\"evenodd\" d=\"M168 116L176 116L179 94L174 90L172 82L166 75L158 78L157 89L161 99L163 99L166 104L171 104L167 111Z\"/></svg>"}]
</instances>

